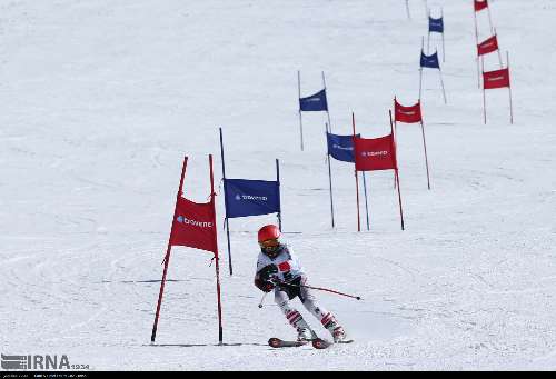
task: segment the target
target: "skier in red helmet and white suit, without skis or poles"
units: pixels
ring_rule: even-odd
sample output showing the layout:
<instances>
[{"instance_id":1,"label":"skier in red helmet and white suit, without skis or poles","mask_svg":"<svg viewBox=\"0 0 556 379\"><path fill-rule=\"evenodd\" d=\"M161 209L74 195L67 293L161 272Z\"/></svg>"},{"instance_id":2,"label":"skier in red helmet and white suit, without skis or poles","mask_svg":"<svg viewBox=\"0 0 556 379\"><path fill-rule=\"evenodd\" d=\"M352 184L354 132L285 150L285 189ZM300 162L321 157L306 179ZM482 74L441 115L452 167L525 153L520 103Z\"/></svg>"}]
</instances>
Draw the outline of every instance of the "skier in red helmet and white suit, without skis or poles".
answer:
<instances>
[{"instance_id":1,"label":"skier in red helmet and white suit, without skis or poles","mask_svg":"<svg viewBox=\"0 0 556 379\"><path fill-rule=\"evenodd\" d=\"M298 341L314 340L317 335L304 320L301 313L289 305L289 300L296 297L330 332L334 342L344 341L346 332L334 315L318 306L311 291L302 287L307 282L307 276L291 248L279 241L280 235L280 230L275 225L260 228L258 232L260 253L257 260L255 286L264 292L274 290L275 301L289 323L296 328Z\"/></svg>"}]
</instances>

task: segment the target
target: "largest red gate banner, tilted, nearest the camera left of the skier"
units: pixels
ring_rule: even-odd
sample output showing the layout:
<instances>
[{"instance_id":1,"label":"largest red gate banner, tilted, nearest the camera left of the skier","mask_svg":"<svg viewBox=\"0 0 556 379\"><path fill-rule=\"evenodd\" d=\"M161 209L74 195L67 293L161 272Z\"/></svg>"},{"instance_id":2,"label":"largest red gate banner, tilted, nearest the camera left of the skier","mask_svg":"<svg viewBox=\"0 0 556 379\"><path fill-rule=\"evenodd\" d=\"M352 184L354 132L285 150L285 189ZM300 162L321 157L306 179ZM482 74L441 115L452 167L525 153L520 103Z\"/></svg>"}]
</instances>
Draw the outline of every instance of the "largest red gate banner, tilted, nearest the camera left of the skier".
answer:
<instances>
[{"instance_id":1,"label":"largest red gate banner, tilted, nearest the camera left of the skier","mask_svg":"<svg viewBox=\"0 0 556 379\"><path fill-rule=\"evenodd\" d=\"M178 198L170 235L171 246L187 246L216 255L216 232L214 200L197 203Z\"/></svg>"}]
</instances>

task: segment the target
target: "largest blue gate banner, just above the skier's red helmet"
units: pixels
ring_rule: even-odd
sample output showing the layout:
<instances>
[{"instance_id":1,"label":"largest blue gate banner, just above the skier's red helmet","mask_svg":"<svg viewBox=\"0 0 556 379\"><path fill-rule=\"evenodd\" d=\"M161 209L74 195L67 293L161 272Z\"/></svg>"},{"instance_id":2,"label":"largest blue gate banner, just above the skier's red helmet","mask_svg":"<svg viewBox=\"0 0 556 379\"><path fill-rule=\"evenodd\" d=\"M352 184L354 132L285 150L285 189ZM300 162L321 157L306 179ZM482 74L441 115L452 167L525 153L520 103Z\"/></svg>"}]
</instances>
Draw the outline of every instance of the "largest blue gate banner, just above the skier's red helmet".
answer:
<instances>
[{"instance_id":1,"label":"largest blue gate banner, just above the skier's red helmet","mask_svg":"<svg viewBox=\"0 0 556 379\"><path fill-rule=\"evenodd\" d=\"M226 217L246 217L280 212L278 181L225 179Z\"/></svg>"}]
</instances>

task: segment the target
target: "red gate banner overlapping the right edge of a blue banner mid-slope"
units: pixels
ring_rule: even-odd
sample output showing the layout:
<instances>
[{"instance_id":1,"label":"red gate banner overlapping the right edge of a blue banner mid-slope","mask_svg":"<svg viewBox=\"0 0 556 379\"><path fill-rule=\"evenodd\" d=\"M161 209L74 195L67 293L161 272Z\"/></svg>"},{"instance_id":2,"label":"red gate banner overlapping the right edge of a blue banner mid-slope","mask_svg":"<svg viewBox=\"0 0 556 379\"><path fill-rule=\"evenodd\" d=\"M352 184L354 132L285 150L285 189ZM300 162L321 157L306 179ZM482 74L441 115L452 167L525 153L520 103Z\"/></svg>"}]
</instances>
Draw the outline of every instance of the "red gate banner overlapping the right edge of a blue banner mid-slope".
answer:
<instances>
[{"instance_id":1,"label":"red gate banner overlapping the right edge of a blue banner mid-slope","mask_svg":"<svg viewBox=\"0 0 556 379\"><path fill-rule=\"evenodd\" d=\"M355 169L357 171L397 170L394 137L354 138Z\"/></svg>"}]
</instances>

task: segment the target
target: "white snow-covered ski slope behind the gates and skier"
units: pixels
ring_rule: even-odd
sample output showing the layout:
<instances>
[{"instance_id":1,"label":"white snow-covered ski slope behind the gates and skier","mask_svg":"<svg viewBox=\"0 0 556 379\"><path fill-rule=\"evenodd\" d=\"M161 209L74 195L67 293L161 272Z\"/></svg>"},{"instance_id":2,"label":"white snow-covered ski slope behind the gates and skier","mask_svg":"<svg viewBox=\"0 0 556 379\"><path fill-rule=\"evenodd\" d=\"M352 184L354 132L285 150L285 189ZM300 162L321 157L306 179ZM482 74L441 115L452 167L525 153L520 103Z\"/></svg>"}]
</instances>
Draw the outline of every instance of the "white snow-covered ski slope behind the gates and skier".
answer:
<instances>
[{"instance_id":1,"label":"white snow-covered ski slope behind the gates and skier","mask_svg":"<svg viewBox=\"0 0 556 379\"><path fill-rule=\"evenodd\" d=\"M448 103L425 71L430 191L420 130L398 126L405 231L391 172L367 176L371 230L355 231L353 167L337 161L332 230L324 114L304 114L299 149L297 70L304 94L325 71L337 133L354 111L364 137L386 134L394 96L416 100L424 3L408 20L394 0L1 0L2 353L95 370L556 369L554 1L492 1L515 122L496 90L486 126L471 1L428 1L444 8ZM181 160L187 197L205 200L219 126L230 178L272 180L280 159L286 239L311 283L364 298L317 293L356 343L266 346L294 337L269 298L257 308L268 216L231 220L234 277L219 229L226 346L210 255L186 248L150 345Z\"/></svg>"}]
</instances>

